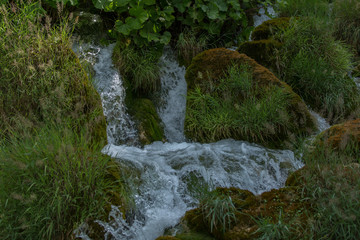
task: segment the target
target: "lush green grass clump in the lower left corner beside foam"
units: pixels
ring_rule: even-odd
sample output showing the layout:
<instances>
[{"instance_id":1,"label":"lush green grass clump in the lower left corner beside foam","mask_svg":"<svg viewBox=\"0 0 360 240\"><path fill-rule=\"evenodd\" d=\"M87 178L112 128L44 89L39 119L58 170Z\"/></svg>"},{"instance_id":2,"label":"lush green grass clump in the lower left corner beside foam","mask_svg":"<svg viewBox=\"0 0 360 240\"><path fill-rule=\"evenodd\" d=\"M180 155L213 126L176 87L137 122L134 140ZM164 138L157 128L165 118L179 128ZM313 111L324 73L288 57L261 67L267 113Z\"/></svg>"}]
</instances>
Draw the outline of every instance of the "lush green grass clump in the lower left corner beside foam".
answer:
<instances>
[{"instance_id":1,"label":"lush green grass clump in the lower left corner beside foam","mask_svg":"<svg viewBox=\"0 0 360 240\"><path fill-rule=\"evenodd\" d=\"M1 141L2 239L71 239L81 223L106 217L109 193L126 202L122 178L107 170L111 159L84 135L44 127Z\"/></svg>"}]
</instances>

